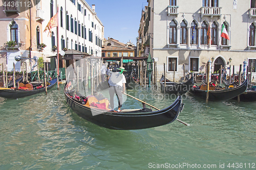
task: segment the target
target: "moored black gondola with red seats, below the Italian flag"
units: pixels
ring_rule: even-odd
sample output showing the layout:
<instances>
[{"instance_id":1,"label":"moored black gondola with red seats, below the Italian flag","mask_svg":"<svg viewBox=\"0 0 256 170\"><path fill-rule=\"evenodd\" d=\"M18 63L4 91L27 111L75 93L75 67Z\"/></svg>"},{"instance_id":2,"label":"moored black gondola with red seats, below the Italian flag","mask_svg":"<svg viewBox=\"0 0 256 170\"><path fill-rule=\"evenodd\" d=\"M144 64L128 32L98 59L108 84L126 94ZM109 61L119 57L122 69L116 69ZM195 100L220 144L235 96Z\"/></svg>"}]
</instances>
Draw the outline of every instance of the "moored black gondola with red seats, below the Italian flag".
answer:
<instances>
[{"instance_id":1,"label":"moored black gondola with red seats, below the Italian flag","mask_svg":"<svg viewBox=\"0 0 256 170\"><path fill-rule=\"evenodd\" d=\"M206 85L204 85L204 88L202 88L203 86L200 87L193 87L190 89L190 92L195 94L196 96L199 96L202 99L206 99ZM238 96L239 94L242 94L247 87L247 80L244 81L243 84L241 84L240 86L237 87L233 87L233 88L226 88L226 89L221 89L221 90L214 90L215 87L212 87L212 90L209 90L209 101L212 102L222 102L222 101L227 101L230 100L236 96Z\"/></svg>"}]
</instances>

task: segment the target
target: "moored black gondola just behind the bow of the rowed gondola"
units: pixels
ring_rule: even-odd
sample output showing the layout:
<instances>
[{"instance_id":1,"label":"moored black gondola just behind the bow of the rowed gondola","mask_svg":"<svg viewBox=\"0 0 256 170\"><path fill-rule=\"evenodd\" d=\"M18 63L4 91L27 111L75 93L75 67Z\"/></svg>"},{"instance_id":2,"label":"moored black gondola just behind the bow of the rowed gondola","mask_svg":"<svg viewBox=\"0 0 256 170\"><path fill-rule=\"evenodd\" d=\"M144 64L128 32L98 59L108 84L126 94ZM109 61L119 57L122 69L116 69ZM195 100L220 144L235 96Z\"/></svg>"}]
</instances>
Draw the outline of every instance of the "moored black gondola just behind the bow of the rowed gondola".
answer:
<instances>
[{"instance_id":1,"label":"moored black gondola just behind the bow of the rowed gondola","mask_svg":"<svg viewBox=\"0 0 256 170\"><path fill-rule=\"evenodd\" d=\"M186 93L189 89L193 87L193 83L194 83L193 76L188 81L183 83L171 82L168 79L165 79L165 81L166 81L166 86L164 87L164 76L162 75L160 79L161 89L165 90L166 92L179 94L179 95Z\"/></svg>"}]
</instances>

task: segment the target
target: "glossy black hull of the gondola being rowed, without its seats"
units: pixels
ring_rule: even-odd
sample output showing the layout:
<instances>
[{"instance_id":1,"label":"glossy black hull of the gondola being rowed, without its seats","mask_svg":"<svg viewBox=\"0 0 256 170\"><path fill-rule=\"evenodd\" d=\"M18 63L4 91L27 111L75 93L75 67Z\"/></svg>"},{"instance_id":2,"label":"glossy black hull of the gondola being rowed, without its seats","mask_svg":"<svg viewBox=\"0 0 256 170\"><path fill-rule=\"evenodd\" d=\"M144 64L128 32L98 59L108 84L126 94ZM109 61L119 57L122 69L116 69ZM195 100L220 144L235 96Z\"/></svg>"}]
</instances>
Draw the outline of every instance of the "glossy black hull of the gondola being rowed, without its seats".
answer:
<instances>
[{"instance_id":1,"label":"glossy black hull of the gondola being rowed, without its seats","mask_svg":"<svg viewBox=\"0 0 256 170\"><path fill-rule=\"evenodd\" d=\"M98 126L115 130L146 129L172 123L178 117L183 105L181 96L178 96L172 105L159 111L145 113L105 111L102 113L102 110L80 104L76 100L70 98L67 93L65 93L65 98L68 106L82 118ZM99 114L93 116L92 111L94 113L99 111Z\"/></svg>"}]
</instances>

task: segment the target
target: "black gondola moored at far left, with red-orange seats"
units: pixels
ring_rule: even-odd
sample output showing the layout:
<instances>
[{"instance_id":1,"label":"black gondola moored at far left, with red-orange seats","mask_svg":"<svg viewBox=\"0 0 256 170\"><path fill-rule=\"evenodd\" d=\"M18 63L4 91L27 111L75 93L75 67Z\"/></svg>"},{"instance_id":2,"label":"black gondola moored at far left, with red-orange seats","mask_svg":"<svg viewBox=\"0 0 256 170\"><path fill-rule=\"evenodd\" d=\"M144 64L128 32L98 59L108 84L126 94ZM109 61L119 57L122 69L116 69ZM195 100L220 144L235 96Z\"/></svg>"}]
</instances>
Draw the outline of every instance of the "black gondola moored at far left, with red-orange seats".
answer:
<instances>
[{"instance_id":1,"label":"black gondola moored at far left, with red-orange seats","mask_svg":"<svg viewBox=\"0 0 256 170\"><path fill-rule=\"evenodd\" d=\"M57 83L57 78L49 81L49 83L50 84L47 86L47 90L50 90ZM18 99L18 98L24 98L29 95L37 94L40 92L44 92L44 91L45 91L45 87L41 87L41 88L34 87L30 89L7 88L7 89L0 90L0 96L2 98L7 98L7 99Z\"/></svg>"}]
</instances>

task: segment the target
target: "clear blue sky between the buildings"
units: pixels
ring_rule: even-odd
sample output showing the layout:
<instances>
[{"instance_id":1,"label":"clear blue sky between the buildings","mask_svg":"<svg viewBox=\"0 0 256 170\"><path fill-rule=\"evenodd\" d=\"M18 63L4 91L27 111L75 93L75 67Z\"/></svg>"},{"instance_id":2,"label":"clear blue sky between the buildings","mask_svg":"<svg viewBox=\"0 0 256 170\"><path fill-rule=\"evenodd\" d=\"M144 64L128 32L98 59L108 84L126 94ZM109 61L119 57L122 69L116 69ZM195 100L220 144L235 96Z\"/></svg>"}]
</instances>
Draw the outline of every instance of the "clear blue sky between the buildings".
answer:
<instances>
[{"instance_id":1,"label":"clear blue sky between the buildings","mask_svg":"<svg viewBox=\"0 0 256 170\"><path fill-rule=\"evenodd\" d=\"M141 11L147 0L86 0L89 6L95 5L95 12L104 26L104 38L114 38L122 43L136 45Z\"/></svg>"}]
</instances>

